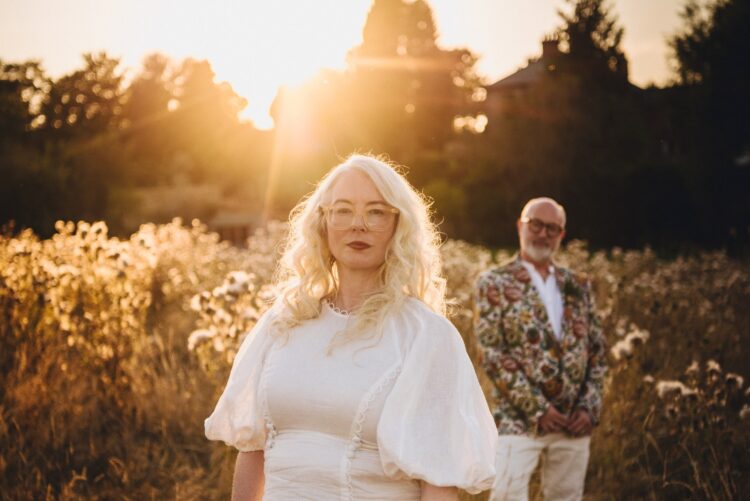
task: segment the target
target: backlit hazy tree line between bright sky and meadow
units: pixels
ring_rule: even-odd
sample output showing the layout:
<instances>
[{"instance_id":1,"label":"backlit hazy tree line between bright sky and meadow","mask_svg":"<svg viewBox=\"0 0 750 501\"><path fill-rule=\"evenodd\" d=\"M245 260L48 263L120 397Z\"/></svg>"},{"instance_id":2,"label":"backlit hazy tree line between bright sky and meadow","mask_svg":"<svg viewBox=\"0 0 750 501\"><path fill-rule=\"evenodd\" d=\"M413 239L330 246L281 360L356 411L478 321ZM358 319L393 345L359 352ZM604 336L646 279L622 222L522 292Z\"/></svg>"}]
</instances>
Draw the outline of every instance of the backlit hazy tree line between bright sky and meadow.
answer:
<instances>
[{"instance_id":1,"label":"backlit hazy tree line between bright sky and meadow","mask_svg":"<svg viewBox=\"0 0 750 501\"><path fill-rule=\"evenodd\" d=\"M503 87L470 49L439 46L427 1L374 0L345 71L279 89L273 131L239 119L245 99L206 61L153 54L128 81L107 54L58 79L0 61L0 223L125 232L133 189L176 183L283 218L341 156L369 151L409 166L451 237L513 245L523 202L549 195L594 246L746 249L748 3L686 0L673 81L646 89L628 80L613 6L567 3L549 37L559 50Z\"/></svg>"}]
</instances>

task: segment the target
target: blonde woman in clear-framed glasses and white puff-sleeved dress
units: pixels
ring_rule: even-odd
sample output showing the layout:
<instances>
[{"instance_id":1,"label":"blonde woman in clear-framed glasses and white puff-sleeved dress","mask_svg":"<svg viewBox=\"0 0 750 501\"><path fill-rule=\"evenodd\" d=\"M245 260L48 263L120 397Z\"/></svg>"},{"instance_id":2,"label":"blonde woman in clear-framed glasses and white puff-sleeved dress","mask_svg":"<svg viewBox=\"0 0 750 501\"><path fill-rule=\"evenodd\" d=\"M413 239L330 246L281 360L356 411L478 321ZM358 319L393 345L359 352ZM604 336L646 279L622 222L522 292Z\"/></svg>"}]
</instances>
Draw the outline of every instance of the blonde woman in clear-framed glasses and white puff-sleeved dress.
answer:
<instances>
[{"instance_id":1,"label":"blonde woman in clear-framed glasses and white puff-sleeved dress","mask_svg":"<svg viewBox=\"0 0 750 501\"><path fill-rule=\"evenodd\" d=\"M233 499L457 499L489 489L496 429L443 316L427 204L351 156L292 212L282 293L206 436L239 449Z\"/></svg>"}]
</instances>

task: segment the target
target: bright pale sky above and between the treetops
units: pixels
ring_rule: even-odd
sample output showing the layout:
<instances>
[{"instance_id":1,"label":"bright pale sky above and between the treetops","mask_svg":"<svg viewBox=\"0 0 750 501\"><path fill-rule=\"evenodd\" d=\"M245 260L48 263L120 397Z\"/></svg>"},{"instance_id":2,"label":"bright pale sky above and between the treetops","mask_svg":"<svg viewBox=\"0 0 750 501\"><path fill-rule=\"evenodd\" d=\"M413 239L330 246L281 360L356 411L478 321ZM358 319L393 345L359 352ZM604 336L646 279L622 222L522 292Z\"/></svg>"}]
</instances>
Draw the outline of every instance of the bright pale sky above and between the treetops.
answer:
<instances>
[{"instance_id":1,"label":"bright pale sky above and between the treetops","mask_svg":"<svg viewBox=\"0 0 750 501\"><path fill-rule=\"evenodd\" d=\"M639 85L669 78L666 38L685 0L611 0L625 28L630 77ZM541 51L561 24L563 0L428 0L443 47L481 56L488 82ZM208 59L219 81L248 99L243 116L271 127L268 109L281 84L299 84L321 67L344 68L362 40L371 0L0 0L0 59L40 59L53 77L82 66L81 54L106 50L137 70L148 53Z\"/></svg>"}]
</instances>

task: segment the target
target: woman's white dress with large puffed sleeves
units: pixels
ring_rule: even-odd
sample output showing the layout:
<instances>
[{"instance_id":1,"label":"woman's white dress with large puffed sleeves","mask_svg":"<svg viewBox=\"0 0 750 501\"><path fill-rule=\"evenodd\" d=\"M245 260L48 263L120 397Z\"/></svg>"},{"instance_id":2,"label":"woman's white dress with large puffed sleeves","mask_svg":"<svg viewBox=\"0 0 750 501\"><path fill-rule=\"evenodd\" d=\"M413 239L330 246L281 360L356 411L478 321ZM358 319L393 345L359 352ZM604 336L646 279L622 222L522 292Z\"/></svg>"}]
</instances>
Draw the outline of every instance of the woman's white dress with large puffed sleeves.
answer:
<instances>
[{"instance_id":1,"label":"woman's white dress with large puffed sleeves","mask_svg":"<svg viewBox=\"0 0 750 501\"><path fill-rule=\"evenodd\" d=\"M418 480L489 489L497 431L460 335L410 299L378 339L327 355L349 317L243 342L206 436L263 450L263 499L417 500Z\"/></svg>"}]
</instances>

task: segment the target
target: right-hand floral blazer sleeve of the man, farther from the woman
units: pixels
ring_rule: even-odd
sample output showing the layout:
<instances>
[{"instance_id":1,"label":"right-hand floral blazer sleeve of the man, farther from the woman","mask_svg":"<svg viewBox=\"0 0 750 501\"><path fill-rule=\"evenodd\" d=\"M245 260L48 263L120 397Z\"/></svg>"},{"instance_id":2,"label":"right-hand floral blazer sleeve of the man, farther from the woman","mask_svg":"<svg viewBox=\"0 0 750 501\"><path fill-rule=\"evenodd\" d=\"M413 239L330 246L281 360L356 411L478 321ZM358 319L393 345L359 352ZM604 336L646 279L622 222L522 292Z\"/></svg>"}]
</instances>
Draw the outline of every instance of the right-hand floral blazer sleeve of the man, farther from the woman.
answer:
<instances>
[{"instance_id":1,"label":"right-hand floral blazer sleeve of the man, farther from the woman","mask_svg":"<svg viewBox=\"0 0 750 501\"><path fill-rule=\"evenodd\" d=\"M596 425L599 424L602 411L604 377L607 374L607 346L601 322L596 313L590 283L586 284L586 294L588 297L589 357L586 367L586 379L581 387L576 407L586 410L589 416L591 416L592 422Z\"/></svg>"}]
</instances>

